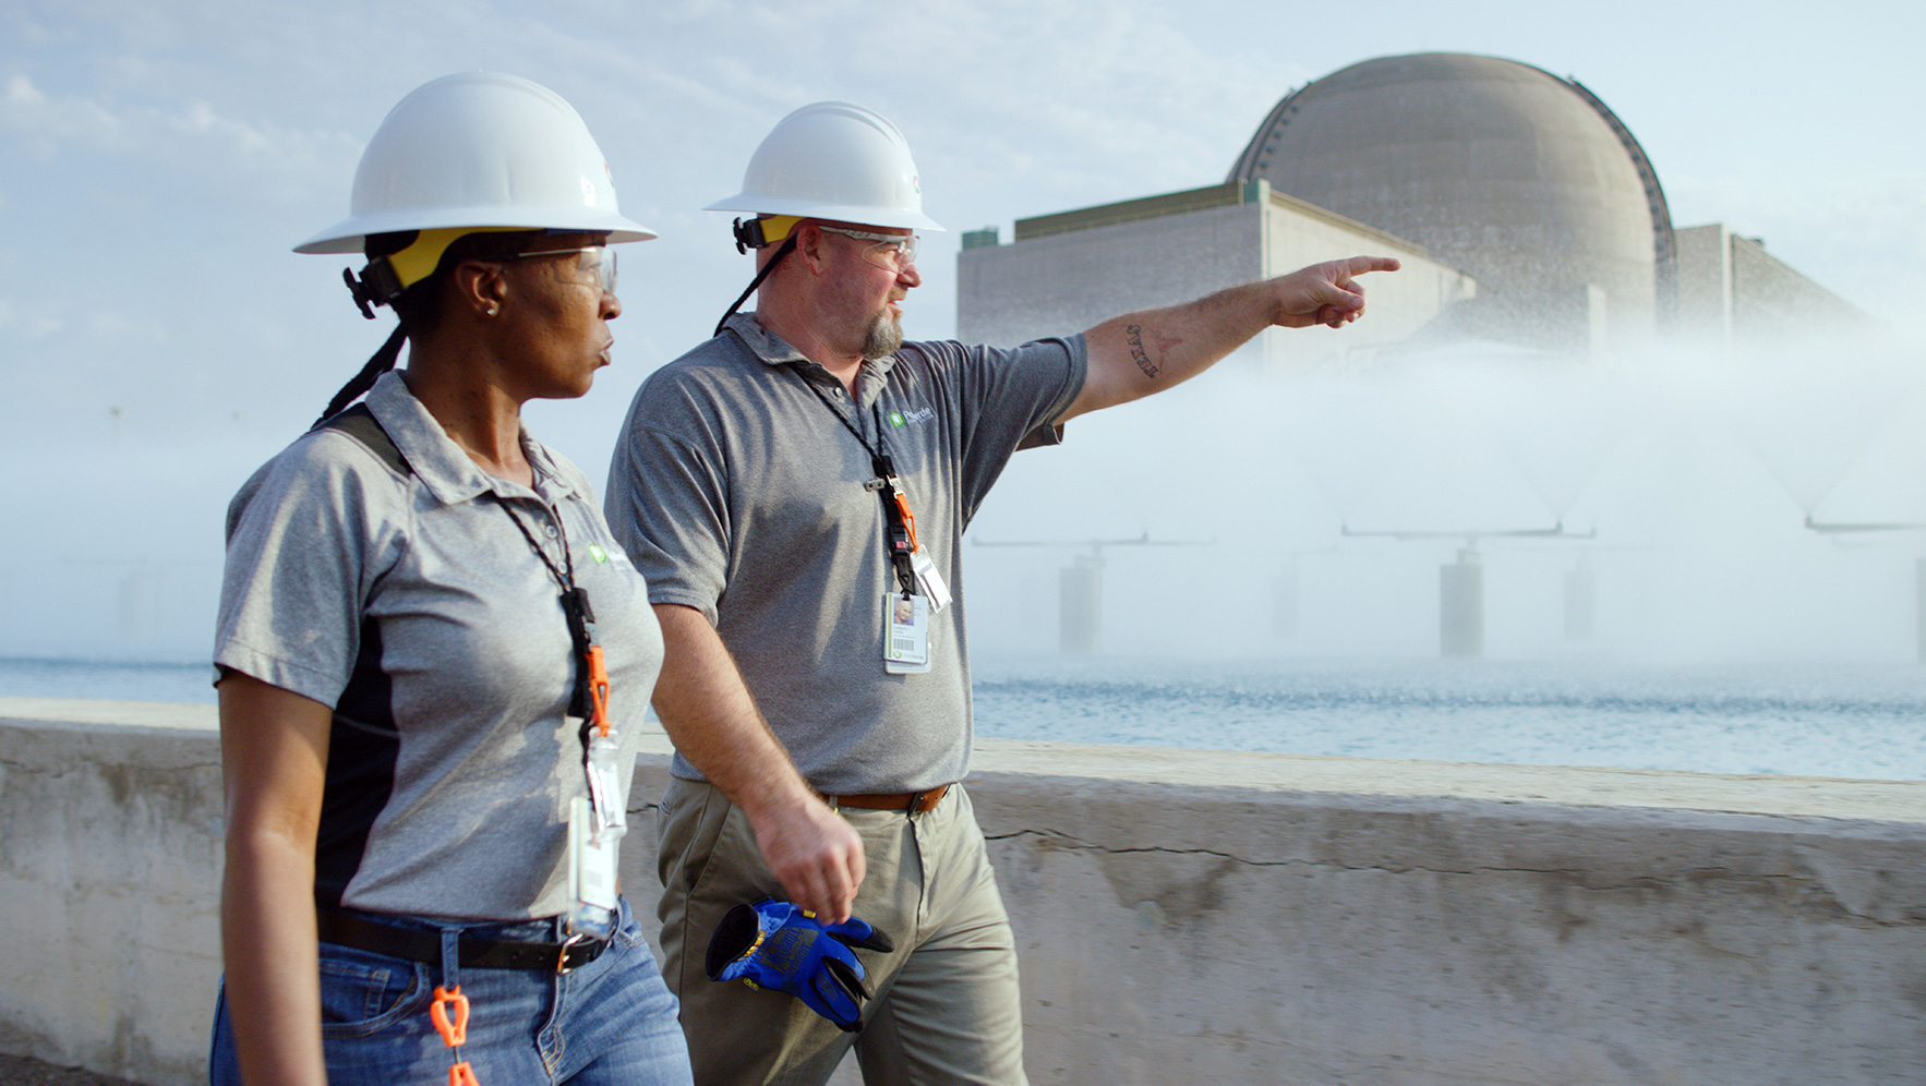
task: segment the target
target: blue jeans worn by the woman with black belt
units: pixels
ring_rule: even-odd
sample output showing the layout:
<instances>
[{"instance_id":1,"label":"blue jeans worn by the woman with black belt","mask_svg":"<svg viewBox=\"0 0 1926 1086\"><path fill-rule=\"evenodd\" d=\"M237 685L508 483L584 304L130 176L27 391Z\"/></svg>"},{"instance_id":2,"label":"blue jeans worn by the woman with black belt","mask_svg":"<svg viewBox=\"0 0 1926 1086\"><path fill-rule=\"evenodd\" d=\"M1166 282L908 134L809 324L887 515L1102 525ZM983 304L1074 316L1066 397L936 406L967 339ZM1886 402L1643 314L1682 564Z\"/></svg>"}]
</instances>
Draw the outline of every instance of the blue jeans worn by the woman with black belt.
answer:
<instances>
[{"instance_id":1,"label":"blue jeans worn by the woman with black belt","mask_svg":"<svg viewBox=\"0 0 1926 1086\"><path fill-rule=\"evenodd\" d=\"M574 972L460 969L468 1044L460 1059L482 1086L560 1084L688 1086L690 1053L676 1024L676 997L622 901L609 949ZM404 926L439 930L439 924ZM466 924L491 940L559 942L557 920ZM322 1051L333 1086L431 1086L449 1080L455 1049L428 1009L439 965L322 944ZM214 1009L214 1086L239 1086L225 986Z\"/></svg>"}]
</instances>

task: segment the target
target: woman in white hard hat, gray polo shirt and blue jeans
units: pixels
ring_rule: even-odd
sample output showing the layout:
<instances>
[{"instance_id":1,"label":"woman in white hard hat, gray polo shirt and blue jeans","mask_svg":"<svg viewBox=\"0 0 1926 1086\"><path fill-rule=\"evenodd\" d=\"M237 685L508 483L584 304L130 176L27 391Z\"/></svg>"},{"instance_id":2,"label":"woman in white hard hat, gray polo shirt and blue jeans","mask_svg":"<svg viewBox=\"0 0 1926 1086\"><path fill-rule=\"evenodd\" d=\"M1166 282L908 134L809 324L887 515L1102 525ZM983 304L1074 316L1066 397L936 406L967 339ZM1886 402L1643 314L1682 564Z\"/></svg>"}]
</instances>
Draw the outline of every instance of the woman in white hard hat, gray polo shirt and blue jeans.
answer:
<instances>
[{"instance_id":1,"label":"woman in white hard hat, gray polo shirt and blue jeans","mask_svg":"<svg viewBox=\"0 0 1926 1086\"><path fill-rule=\"evenodd\" d=\"M468 73L395 106L299 246L364 250L349 287L401 325L227 516L216 1084L690 1082L614 893L661 634L520 427L609 364L607 245L649 237L562 98Z\"/></svg>"}]
</instances>

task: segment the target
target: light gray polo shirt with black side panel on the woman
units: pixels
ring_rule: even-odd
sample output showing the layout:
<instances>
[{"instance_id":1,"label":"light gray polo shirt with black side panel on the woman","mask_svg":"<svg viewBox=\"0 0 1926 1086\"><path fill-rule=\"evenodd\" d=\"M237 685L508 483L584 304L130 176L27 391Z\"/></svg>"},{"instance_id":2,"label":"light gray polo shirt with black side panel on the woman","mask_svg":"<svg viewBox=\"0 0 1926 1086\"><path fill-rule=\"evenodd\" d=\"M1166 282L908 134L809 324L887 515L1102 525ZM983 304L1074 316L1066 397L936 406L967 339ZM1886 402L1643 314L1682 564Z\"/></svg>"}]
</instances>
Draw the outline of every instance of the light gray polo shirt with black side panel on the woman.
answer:
<instances>
[{"instance_id":1,"label":"light gray polo shirt with black side panel on the woman","mask_svg":"<svg viewBox=\"0 0 1926 1086\"><path fill-rule=\"evenodd\" d=\"M214 662L335 707L320 901L553 917L570 905L568 801L587 791L566 716L578 662L560 589L507 510L557 566L566 535L628 759L663 660L647 589L562 456L524 433L535 487L489 476L399 374L368 408L410 472L331 429L256 472L227 510Z\"/></svg>"}]
</instances>

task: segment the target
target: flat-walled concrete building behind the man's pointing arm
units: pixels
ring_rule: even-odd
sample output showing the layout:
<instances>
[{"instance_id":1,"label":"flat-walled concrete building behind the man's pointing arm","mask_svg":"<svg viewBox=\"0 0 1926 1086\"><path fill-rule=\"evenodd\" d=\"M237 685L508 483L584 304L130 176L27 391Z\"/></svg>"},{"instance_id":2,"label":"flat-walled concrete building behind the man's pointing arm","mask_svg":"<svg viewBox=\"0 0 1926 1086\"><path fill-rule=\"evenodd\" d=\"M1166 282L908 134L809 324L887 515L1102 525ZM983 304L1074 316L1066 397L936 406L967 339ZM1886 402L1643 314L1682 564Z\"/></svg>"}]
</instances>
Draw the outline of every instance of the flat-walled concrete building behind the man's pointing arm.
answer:
<instances>
[{"instance_id":1,"label":"flat-walled concrete building behind the man's pointing arm","mask_svg":"<svg viewBox=\"0 0 1926 1086\"><path fill-rule=\"evenodd\" d=\"M1186 302L1339 256L1396 256L1404 270L1371 283L1371 320L1312 335L1271 329L1271 366L1367 362L1477 293L1470 275L1423 246L1275 191L1225 183L1123 204L1017 220L1013 245L965 248L957 337L1017 345L1082 331L1121 312Z\"/></svg>"}]
</instances>

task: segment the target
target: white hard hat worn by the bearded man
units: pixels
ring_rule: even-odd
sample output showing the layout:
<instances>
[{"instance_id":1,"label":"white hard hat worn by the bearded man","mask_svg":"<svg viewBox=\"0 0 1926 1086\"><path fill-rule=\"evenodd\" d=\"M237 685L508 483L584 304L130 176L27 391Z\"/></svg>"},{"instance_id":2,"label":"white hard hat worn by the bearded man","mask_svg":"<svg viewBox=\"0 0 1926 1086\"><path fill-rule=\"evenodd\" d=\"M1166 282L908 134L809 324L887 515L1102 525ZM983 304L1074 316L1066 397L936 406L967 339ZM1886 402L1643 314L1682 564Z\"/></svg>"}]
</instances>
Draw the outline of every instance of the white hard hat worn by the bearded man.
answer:
<instances>
[{"instance_id":1,"label":"white hard hat worn by the bearded man","mask_svg":"<svg viewBox=\"0 0 1926 1086\"><path fill-rule=\"evenodd\" d=\"M944 229L923 214L909 141L849 102L813 102L776 121L749 156L742 193L703 210Z\"/></svg>"}]
</instances>

